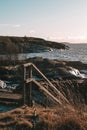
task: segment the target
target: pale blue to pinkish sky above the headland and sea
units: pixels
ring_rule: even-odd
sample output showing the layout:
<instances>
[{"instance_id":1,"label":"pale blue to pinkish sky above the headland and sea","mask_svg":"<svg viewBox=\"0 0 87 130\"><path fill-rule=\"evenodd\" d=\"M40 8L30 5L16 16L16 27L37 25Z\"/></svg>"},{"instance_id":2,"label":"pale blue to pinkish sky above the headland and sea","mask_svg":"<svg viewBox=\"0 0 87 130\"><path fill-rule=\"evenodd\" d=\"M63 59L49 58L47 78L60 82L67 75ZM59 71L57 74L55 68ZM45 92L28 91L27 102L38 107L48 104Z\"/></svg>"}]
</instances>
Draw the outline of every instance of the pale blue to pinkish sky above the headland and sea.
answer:
<instances>
[{"instance_id":1,"label":"pale blue to pinkish sky above the headland and sea","mask_svg":"<svg viewBox=\"0 0 87 130\"><path fill-rule=\"evenodd\" d=\"M0 35L87 43L87 0L0 0Z\"/></svg>"}]
</instances>

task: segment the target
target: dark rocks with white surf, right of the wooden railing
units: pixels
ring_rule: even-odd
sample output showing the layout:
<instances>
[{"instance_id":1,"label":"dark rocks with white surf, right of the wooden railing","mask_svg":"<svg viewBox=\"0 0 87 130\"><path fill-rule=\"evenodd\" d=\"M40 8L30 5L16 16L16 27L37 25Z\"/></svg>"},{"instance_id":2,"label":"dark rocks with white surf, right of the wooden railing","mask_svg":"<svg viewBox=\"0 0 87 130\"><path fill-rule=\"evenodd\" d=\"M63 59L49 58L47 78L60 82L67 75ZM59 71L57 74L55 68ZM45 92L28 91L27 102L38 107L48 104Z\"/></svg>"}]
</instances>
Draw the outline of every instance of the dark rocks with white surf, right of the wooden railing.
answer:
<instances>
[{"instance_id":1,"label":"dark rocks with white surf, right of the wooden railing","mask_svg":"<svg viewBox=\"0 0 87 130\"><path fill-rule=\"evenodd\" d=\"M48 78L86 78L81 70L86 70L87 64L79 61L59 61L36 57L28 59L27 62L34 63Z\"/></svg>"}]
</instances>

